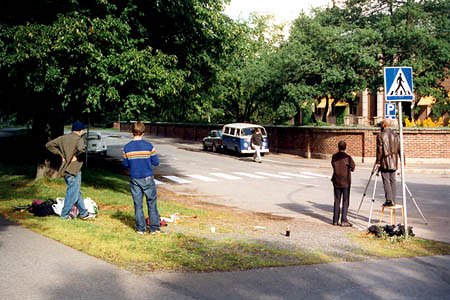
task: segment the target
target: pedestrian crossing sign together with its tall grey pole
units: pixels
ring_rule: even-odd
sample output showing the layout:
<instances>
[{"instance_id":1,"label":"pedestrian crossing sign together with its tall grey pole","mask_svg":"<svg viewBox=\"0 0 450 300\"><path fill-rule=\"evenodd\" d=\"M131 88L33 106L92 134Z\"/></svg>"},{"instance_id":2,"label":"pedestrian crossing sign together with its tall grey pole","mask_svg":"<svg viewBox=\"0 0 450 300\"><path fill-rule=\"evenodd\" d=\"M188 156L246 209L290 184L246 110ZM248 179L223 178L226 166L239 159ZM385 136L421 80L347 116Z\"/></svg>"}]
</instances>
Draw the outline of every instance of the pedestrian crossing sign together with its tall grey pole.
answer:
<instances>
[{"instance_id":1,"label":"pedestrian crossing sign together with its tall grey pole","mask_svg":"<svg viewBox=\"0 0 450 300\"><path fill-rule=\"evenodd\" d=\"M402 198L405 213L405 237L408 238L408 213L406 209L405 189L405 152L403 148L403 111L402 102L412 102L414 99L411 67L385 67L384 91L386 101L395 101L398 104L398 127L400 131L400 160L402 176ZM387 107L386 107L387 108ZM387 111L387 110L386 110ZM394 199L395 200L395 199Z\"/></svg>"}]
</instances>

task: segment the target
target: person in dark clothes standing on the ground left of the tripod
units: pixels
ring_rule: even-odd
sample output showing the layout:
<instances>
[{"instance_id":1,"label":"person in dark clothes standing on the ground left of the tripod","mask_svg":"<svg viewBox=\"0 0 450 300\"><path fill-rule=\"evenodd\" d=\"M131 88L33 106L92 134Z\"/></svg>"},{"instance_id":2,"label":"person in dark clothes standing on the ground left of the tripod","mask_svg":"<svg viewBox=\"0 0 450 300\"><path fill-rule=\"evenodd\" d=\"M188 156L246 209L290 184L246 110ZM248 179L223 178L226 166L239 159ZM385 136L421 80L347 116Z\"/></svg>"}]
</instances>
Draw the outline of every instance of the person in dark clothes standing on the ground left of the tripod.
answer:
<instances>
[{"instance_id":1,"label":"person in dark clothes standing on the ground left of the tripod","mask_svg":"<svg viewBox=\"0 0 450 300\"><path fill-rule=\"evenodd\" d=\"M347 220L348 205L350 203L350 185L351 173L355 170L355 162L353 158L345 153L347 144L344 141L338 143L339 152L335 153L331 158L333 166L333 176L331 181L334 186L334 213L333 225L339 225L339 217L341 217L341 226L352 226ZM342 213L341 213L342 199Z\"/></svg>"}]
</instances>

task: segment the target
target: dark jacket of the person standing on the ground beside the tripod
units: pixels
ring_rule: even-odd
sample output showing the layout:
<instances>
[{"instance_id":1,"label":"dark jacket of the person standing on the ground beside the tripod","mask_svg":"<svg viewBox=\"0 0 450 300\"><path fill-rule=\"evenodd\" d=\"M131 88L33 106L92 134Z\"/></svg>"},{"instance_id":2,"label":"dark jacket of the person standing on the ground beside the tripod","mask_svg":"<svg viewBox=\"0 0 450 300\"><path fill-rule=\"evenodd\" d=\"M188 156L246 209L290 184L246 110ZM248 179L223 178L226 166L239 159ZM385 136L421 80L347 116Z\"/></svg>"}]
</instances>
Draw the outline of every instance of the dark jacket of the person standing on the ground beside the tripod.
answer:
<instances>
[{"instance_id":1,"label":"dark jacket of the person standing on the ground beside the tripod","mask_svg":"<svg viewBox=\"0 0 450 300\"><path fill-rule=\"evenodd\" d=\"M334 187L350 187L352 183L350 172L355 170L353 158L344 151L339 151L331 158L331 165L333 166L333 176L331 177L331 181L333 182Z\"/></svg>"}]
</instances>

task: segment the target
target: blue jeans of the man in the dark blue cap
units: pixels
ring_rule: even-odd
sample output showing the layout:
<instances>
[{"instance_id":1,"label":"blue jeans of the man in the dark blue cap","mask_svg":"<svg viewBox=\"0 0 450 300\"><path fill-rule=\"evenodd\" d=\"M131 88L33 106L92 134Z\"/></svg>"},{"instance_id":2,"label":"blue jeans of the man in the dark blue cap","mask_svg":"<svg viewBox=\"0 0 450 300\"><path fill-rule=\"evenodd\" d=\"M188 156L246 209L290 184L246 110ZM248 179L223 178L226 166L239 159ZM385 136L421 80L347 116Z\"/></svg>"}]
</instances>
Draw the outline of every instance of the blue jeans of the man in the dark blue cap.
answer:
<instances>
[{"instance_id":1,"label":"blue jeans of the man in the dark blue cap","mask_svg":"<svg viewBox=\"0 0 450 300\"><path fill-rule=\"evenodd\" d=\"M61 210L61 218L67 219L74 205L77 206L80 216L86 216L88 211L84 206L83 196L81 195L81 172L76 175L66 174L64 180L67 185L66 198Z\"/></svg>"}]
</instances>

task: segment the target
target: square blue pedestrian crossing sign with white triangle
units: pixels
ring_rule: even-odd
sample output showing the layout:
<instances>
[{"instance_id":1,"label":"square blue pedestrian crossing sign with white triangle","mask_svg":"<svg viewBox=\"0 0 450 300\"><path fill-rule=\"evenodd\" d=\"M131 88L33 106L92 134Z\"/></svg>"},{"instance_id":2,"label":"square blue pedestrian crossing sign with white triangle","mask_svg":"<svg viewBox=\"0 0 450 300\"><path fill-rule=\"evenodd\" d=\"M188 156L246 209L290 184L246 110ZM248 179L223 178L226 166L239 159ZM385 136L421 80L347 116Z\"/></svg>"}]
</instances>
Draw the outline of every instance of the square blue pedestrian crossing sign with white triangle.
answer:
<instances>
[{"instance_id":1,"label":"square blue pedestrian crossing sign with white triangle","mask_svg":"<svg viewBox=\"0 0 450 300\"><path fill-rule=\"evenodd\" d=\"M386 101L413 101L411 67L385 67L384 92Z\"/></svg>"}]
</instances>

